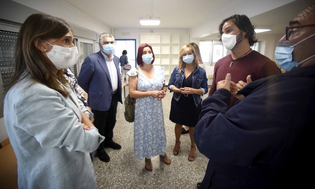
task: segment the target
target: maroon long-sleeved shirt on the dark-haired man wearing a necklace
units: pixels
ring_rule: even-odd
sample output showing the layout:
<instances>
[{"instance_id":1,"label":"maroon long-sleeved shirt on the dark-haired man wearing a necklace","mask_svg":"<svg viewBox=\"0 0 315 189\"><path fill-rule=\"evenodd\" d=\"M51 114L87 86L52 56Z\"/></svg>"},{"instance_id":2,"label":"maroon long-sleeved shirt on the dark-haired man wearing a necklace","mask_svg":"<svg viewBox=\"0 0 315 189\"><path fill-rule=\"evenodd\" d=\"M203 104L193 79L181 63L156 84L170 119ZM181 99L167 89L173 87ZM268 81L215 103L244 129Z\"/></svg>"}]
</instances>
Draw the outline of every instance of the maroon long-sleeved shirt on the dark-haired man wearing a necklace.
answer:
<instances>
[{"instance_id":1,"label":"maroon long-sleeved shirt on the dark-haired man wearing a necklace","mask_svg":"<svg viewBox=\"0 0 315 189\"><path fill-rule=\"evenodd\" d=\"M231 54L221 58L215 63L213 82L209 90L209 95L212 95L216 90L216 85L219 81L225 80L226 74L231 73L231 81L246 81L246 77L251 75L252 81L265 78L271 75L280 74L281 70L276 63L268 57L260 54L257 51L251 51L248 55L238 58L233 62ZM238 99L232 95L229 108L231 108Z\"/></svg>"}]
</instances>

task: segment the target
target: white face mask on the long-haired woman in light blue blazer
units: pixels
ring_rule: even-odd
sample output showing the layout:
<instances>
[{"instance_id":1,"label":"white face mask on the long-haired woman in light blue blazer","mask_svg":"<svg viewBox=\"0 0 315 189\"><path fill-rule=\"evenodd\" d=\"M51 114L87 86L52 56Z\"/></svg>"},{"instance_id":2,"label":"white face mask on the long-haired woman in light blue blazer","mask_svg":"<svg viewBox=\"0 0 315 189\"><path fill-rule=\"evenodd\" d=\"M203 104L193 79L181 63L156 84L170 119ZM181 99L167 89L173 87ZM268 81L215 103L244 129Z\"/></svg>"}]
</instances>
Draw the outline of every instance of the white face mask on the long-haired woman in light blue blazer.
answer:
<instances>
[{"instance_id":1,"label":"white face mask on the long-haired woman in light blue blazer","mask_svg":"<svg viewBox=\"0 0 315 189\"><path fill-rule=\"evenodd\" d=\"M46 52L47 57L53 62L58 70L72 67L78 62L79 52L76 46L67 48L59 45L52 45L49 42L47 43L53 46L49 52Z\"/></svg>"}]
</instances>

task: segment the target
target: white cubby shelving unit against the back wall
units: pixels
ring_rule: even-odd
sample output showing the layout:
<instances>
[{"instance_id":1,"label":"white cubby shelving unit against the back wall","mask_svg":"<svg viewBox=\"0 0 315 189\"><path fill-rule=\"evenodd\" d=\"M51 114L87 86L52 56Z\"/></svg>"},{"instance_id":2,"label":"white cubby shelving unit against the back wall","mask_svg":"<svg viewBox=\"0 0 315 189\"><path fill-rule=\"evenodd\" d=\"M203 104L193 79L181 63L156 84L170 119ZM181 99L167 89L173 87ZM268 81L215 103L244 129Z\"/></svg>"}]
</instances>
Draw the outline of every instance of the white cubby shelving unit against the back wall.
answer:
<instances>
[{"instance_id":1,"label":"white cubby shelving unit against the back wall","mask_svg":"<svg viewBox=\"0 0 315 189\"><path fill-rule=\"evenodd\" d=\"M152 46L155 56L153 65L164 67L167 85L174 68L178 66L180 48L189 43L189 33L141 33L140 43Z\"/></svg>"}]
</instances>

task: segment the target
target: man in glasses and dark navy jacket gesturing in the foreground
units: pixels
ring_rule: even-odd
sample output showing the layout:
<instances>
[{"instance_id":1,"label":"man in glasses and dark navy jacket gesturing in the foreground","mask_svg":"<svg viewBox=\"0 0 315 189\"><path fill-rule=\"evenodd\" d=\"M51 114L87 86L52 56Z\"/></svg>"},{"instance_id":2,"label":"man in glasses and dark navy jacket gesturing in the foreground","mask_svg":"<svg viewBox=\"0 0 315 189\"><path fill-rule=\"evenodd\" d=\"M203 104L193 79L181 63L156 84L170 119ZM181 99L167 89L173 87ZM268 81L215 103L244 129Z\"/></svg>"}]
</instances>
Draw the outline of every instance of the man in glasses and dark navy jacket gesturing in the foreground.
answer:
<instances>
[{"instance_id":1,"label":"man in glasses and dark navy jacket gesturing in the foreground","mask_svg":"<svg viewBox=\"0 0 315 189\"><path fill-rule=\"evenodd\" d=\"M315 3L289 24L275 57L286 73L238 84L233 75L203 100L194 138L209 158L200 188L309 188L315 123ZM244 97L244 98L241 98Z\"/></svg>"}]
</instances>

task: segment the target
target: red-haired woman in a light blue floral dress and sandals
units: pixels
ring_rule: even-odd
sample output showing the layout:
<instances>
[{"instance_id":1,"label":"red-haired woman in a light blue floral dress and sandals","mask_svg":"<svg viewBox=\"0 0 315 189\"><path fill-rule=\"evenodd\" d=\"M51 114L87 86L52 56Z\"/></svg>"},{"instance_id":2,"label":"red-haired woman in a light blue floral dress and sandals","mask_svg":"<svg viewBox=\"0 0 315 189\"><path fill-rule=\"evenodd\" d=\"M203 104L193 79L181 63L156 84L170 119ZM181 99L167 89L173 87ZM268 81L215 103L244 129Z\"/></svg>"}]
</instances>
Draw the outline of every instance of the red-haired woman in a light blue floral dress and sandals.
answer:
<instances>
[{"instance_id":1,"label":"red-haired woman in a light blue floral dress and sandals","mask_svg":"<svg viewBox=\"0 0 315 189\"><path fill-rule=\"evenodd\" d=\"M171 164L171 159L165 153L166 133L161 100L166 95L164 67L153 66L153 62L152 47L140 45L137 55L139 67L127 73L130 79L129 95L136 98L135 156L140 160L145 158L145 169L148 171L152 171L151 158L156 155L160 155L165 164Z\"/></svg>"}]
</instances>

